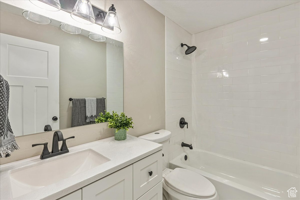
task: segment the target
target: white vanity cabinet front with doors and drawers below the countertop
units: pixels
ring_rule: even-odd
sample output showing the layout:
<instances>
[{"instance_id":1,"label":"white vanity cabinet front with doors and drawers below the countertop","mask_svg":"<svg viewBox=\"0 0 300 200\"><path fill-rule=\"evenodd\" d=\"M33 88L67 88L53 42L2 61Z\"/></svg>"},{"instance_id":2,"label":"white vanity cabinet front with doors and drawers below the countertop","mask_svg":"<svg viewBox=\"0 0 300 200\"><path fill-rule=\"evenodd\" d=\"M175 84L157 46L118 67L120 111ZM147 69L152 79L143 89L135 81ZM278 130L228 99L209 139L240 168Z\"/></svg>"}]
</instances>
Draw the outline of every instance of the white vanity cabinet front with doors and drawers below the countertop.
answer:
<instances>
[{"instance_id":1,"label":"white vanity cabinet front with doors and drawers below the countertop","mask_svg":"<svg viewBox=\"0 0 300 200\"><path fill-rule=\"evenodd\" d=\"M60 200L161 200L162 150L114 172ZM80 191L80 192L79 192ZM76 193L76 196L74 196Z\"/></svg>"}]
</instances>

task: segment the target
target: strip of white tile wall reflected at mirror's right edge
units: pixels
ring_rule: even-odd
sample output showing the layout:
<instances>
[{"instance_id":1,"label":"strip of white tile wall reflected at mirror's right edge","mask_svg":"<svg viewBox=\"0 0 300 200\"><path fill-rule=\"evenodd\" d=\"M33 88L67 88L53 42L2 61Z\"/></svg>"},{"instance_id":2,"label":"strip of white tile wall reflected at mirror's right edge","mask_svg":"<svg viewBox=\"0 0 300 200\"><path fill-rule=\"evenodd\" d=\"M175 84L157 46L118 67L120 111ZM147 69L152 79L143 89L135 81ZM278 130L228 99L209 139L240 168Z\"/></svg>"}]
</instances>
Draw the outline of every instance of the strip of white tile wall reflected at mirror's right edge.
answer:
<instances>
[{"instance_id":1,"label":"strip of white tile wall reflected at mirror's right edge","mask_svg":"<svg viewBox=\"0 0 300 200\"><path fill-rule=\"evenodd\" d=\"M123 48L106 44L107 98L106 110L123 112Z\"/></svg>"}]
</instances>

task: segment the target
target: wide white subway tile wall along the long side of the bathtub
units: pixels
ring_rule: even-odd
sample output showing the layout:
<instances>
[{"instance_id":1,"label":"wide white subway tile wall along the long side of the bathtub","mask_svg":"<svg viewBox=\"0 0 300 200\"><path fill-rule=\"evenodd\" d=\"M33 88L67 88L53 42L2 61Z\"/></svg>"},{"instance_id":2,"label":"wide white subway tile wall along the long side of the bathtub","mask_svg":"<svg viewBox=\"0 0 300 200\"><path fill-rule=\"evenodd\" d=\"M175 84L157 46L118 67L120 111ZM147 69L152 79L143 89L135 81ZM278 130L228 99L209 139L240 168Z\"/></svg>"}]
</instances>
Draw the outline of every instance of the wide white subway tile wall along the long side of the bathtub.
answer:
<instances>
[{"instance_id":1,"label":"wide white subway tile wall along the long side of the bathtub","mask_svg":"<svg viewBox=\"0 0 300 200\"><path fill-rule=\"evenodd\" d=\"M192 36L197 50L191 54L195 57L190 128L196 147L300 173L299 15L296 3ZM179 63L171 52L182 50L177 48L178 39L190 35L179 35L182 31L174 23L175 28L168 29L171 22L167 22L167 56L173 56L167 59L167 86L179 85L167 89L169 96L178 95L167 100L167 119L172 118L167 121L174 123L167 127L177 130L173 120L183 113L190 120L190 79L180 74L184 70L174 72L178 77L170 80L170 70ZM182 69L191 66L189 59L182 63Z\"/></svg>"}]
</instances>

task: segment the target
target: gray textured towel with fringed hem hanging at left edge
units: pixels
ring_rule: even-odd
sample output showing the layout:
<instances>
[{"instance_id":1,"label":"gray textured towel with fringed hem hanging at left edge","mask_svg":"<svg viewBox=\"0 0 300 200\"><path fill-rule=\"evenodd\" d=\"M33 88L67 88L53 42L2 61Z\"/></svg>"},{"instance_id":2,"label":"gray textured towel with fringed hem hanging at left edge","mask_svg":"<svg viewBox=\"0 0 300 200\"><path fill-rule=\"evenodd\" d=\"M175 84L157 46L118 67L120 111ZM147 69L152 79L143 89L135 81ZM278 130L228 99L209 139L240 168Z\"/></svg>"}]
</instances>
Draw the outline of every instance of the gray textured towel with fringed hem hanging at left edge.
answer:
<instances>
[{"instance_id":1,"label":"gray textured towel with fringed hem hanging at left edge","mask_svg":"<svg viewBox=\"0 0 300 200\"><path fill-rule=\"evenodd\" d=\"M20 149L10 127L8 104L9 85L0 75L0 157L8 157L14 150Z\"/></svg>"}]
</instances>

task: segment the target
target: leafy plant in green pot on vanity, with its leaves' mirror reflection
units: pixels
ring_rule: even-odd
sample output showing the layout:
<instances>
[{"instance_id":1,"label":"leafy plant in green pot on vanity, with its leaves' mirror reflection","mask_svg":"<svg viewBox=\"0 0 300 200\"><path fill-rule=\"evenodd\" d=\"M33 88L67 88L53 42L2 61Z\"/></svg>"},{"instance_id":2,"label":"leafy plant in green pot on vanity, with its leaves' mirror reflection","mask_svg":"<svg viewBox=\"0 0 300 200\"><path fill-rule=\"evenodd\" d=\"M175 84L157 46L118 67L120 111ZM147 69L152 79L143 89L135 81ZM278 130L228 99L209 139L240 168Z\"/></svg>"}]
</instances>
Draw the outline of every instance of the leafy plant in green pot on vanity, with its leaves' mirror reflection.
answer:
<instances>
[{"instance_id":1,"label":"leafy plant in green pot on vanity, with its leaves' mirror reflection","mask_svg":"<svg viewBox=\"0 0 300 200\"><path fill-rule=\"evenodd\" d=\"M100 113L95 122L108 122L108 128L115 129L115 140L126 140L128 129L133 128L131 117L126 116L125 113L119 115L115 111L112 114L110 112Z\"/></svg>"}]
</instances>

